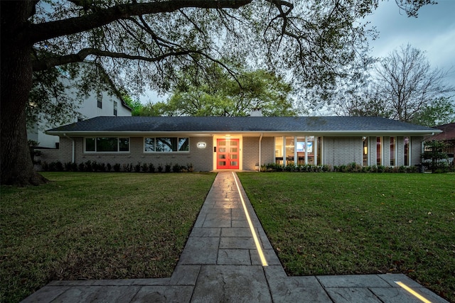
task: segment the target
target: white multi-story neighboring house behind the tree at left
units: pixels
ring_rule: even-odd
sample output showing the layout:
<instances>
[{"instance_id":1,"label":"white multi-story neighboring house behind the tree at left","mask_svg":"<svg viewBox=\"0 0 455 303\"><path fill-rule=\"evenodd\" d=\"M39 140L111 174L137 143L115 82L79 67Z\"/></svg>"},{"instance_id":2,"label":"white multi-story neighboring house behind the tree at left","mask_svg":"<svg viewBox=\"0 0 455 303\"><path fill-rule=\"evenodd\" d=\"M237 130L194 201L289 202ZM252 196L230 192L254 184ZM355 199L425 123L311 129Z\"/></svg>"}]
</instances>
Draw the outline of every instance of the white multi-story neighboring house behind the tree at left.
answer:
<instances>
[{"instance_id":1,"label":"white multi-story neighboring house behind the tree at left","mask_svg":"<svg viewBox=\"0 0 455 303\"><path fill-rule=\"evenodd\" d=\"M95 63L80 62L79 64L93 65ZM73 83L77 82L79 78L70 78L68 73L62 71L62 77L60 77L60 79L65 87L67 87L65 89L65 94L71 99L76 100L76 96L79 92L77 92L77 89ZM82 103L80 104L80 107L78 109L79 114L77 117L68 117L68 119L66 119L66 123L82 121L84 119L90 119L96 116L132 116L132 109L127 106L109 77L105 74L105 77L100 77L100 82L101 81L107 82L106 84L110 88L111 92L108 92L106 89L100 91L93 89L88 92L87 97L84 97ZM50 101L52 102L55 100ZM34 123L33 126L28 126L27 138L28 140L38 142L38 148L58 148L59 138L56 136L47 135L44 131L45 129L57 127L60 125L62 124L49 125L45 117L38 117L38 121Z\"/></svg>"}]
</instances>

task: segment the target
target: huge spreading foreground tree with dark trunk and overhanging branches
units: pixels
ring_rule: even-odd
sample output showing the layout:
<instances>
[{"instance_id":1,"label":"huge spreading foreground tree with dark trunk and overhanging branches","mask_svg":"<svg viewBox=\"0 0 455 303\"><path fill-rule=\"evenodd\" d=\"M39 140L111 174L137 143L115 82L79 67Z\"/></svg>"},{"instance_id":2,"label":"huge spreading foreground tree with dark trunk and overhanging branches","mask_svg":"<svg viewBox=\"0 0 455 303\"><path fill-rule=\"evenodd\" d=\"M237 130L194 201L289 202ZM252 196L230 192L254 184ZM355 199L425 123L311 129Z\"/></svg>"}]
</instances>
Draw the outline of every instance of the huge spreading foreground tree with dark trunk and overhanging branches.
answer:
<instances>
[{"instance_id":1,"label":"huge spreading foreground tree with dark trunk and overhanging branches","mask_svg":"<svg viewBox=\"0 0 455 303\"><path fill-rule=\"evenodd\" d=\"M414 0L416 7L422 1ZM365 48L371 0L1 1L1 183L39 184L26 140L33 73L93 60L119 87L168 89L189 66L241 57L333 85ZM252 51L254 50L254 51Z\"/></svg>"}]
</instances>

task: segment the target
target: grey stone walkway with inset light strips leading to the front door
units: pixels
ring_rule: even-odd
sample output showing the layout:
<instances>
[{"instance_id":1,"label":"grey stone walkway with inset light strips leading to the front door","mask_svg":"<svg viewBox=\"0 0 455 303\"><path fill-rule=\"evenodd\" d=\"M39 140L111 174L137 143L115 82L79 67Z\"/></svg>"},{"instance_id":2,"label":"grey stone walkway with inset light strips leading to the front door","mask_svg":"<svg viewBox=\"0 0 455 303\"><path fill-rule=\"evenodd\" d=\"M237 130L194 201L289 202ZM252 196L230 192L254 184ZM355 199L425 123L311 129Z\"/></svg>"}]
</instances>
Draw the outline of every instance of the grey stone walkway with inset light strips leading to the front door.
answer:
<instances>
[{"instance_id":1,"label":"grey stone walkway with inset light strips leading to the front door","mask_svg":"<svg viewBox=\"0 0 455 303\"><path fill-rule=\"evenodd\" d=\"M410 287L420 299L397 281ZM437 303L446 300L406 275L287 277L237 175L219 172L171 277L53 281L23 302Z\"/></svg>"}]
</instances>

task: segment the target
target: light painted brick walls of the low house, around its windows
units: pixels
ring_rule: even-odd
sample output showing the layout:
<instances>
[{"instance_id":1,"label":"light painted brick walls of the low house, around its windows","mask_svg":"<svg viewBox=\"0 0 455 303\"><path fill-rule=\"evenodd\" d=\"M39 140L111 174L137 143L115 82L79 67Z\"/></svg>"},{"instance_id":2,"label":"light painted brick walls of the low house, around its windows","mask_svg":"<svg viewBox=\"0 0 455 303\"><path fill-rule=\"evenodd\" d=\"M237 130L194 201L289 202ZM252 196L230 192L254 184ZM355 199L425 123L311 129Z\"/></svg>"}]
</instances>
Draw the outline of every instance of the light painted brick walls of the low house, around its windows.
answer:
<instances>
[{"instance_id":1,"label":"light painted brick walls of the low house, around its windows","mask_svg":"<svg viewBox=\"0 0 455 303\"><path fill-rule=\"evenodd\" d=\"M404 137L397 137L397 166L404 163ZM370 165L376 164L376 137L371 136ZM416 165L422 153L423 137L411 137L411 162ZM198 148L198 142L205 142L205 148ZM75 162L100 162L120 165L141 163L153 163L155 167L160 164L193 164L195 171L213 170L213 138L191 137L190 151L188 153L144 153L144 138L130 138L129 153L84 153L83 138L75 137ZM261 165L274 162L274 137L263 137L261 149ZM363 140L362 137L323 137L323 161L326 165L347 165L355 162L363 164ZM73 140L60 137L60 149L41 150L39 158L41 162L71 162L73 157ZM242 147L242 170L255 170L259 159L259 137L243 137ZM319 155L320 157L320 155ZM390 165L390 137L382 138L382 157L384 164ZM37 159L38 160L38 159Z\"/></svg>"}]
</instances>

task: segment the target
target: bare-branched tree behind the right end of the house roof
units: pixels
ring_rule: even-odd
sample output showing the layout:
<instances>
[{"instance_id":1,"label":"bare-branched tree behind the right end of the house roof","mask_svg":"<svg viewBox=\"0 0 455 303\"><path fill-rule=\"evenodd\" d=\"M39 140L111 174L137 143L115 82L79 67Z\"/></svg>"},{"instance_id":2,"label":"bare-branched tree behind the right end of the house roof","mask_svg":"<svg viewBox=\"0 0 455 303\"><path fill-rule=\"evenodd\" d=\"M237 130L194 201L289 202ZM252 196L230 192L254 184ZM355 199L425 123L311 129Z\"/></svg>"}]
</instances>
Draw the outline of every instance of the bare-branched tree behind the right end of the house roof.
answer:
<instances>
[{"instance_id":1,"label":"bare-branched tree behind the right end of the house roof","mask_svg":"<svg viewBox=\"0 0 455 303\"><path fill-rule=\"evenodd\" d=\"M449 94L455 92L455 87L444 82L447 75L444 70L432 69L422 50L402 46L375 65L362 87L340 98L338 111L425 125L429 120L446 121L453 111Z\"/></svg>"}]
</instances>

